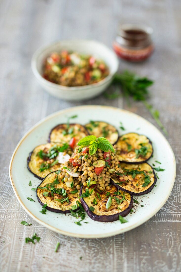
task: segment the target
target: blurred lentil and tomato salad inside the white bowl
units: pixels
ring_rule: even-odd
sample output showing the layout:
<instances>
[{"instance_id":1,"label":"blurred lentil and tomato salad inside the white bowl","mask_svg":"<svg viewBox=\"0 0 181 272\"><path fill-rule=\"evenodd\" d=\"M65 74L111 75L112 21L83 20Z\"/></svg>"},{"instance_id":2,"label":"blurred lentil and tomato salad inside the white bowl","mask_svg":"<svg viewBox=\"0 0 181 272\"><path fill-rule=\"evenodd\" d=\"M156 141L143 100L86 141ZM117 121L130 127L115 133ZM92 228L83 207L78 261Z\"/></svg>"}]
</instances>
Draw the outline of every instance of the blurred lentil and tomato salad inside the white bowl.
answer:
<instances>
[{"instance_id":1,"label":"blurred lentil and tomato salad inside the white bowl","mask_svg":"<svg viewBox=\"0 0 181 272\"><path fill-rule=\"evenodd\" d=\"M46 58L43 77L63 86L84 86L101 81L109 75L103 60L77 52L53 52Z\"/></svg>"}]
</instances>

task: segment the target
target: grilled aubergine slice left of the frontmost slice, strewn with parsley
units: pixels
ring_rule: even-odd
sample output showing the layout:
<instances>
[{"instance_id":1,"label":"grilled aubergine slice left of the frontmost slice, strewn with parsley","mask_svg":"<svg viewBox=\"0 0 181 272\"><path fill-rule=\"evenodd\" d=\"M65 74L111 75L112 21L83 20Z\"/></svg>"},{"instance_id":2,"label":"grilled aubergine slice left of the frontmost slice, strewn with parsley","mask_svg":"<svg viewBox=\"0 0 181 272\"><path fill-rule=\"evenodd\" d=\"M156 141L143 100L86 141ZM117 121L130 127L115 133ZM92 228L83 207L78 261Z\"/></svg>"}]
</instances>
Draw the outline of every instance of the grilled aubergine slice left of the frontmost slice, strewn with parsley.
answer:
<instances>
[{"instance_id":1,"label":"grilled aubergine slice left of the frontmost slice, strewn with parsley","mask_svg":"<svg viewBox=\"0 0 181 272\"><path fill-rule=\"evenodd\" d=\"M47 204L47 210L67 214L79 200L79 191L67 187L57 173L52 172L43 179L36 189L36 196L42 206ZM78 208L74 211L77 210Z\"/></svg>"}]
</instances>

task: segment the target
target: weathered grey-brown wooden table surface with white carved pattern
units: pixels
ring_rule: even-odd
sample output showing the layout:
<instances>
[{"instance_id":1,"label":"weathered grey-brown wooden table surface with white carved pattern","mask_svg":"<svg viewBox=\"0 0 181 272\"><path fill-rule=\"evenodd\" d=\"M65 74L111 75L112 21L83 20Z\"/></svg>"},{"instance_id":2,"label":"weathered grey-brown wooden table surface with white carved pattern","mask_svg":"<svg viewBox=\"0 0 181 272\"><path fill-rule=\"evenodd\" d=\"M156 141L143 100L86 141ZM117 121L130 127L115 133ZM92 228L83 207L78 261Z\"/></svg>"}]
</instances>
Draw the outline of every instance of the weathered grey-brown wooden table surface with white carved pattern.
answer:
<instances>
[{"instance_id":1,"label":"weathered grey-brown wooden table surface with white carved pattern","mask_svg":"<svg viewBox=\"0 0 181 272\"><path fill-rule=\"evenodd\" d=\"M0 11L0 271L181 271L181 1L0 0ZM169 132L176 181L163 208L140 227L106 239L65 237L31 219L15 197L8 167L20 138L50 113L84 104L123 107L156 123L141 103L128 108L122 98L101 95L74 103L51 97L31 72L31 56L59 39L95 39L111 47L119 21L142 21L154 29L153 56L139 64L120 61L120 70L155 81L149 102ZM32 226L21 225L22 220ZM34 231L40 242L25 244ZM61 247L55 253L57 242Z\"/></svg>"}]
</instances>

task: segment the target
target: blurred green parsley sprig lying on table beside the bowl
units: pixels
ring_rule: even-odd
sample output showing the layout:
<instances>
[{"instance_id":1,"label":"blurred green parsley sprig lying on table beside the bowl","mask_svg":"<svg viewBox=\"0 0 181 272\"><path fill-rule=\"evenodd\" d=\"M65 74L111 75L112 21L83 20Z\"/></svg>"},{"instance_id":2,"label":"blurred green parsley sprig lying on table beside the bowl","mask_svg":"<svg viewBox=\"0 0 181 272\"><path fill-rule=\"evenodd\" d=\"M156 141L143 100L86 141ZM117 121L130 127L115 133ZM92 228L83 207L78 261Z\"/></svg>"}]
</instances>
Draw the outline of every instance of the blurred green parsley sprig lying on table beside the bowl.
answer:
<instances>
[{"instance_id":1,"label":"blurred green parsley sprig lying on table beside the bowl","mask_svg":"<svg viewBox=\"0 0 181 272\"><path fill-rule=\"evenodd\" d=\"M120 85L122 96L126 98L128 104L130 104L130 97L136 101L142 101L157 122L157 125L166 135L168 135L166 129L160 121L159 111L155 110L153 106L146 101L149 95L148 87L153 84L152 80L146 77L141 78L135 73L129 71L124 71L123 73L117 73L115 75L112 84ZM116 99L120 96L120 93L118 90L111 94L109 94L109 92L105 92L104 96L108 99Z\"/></svg>"}]
</instances>

